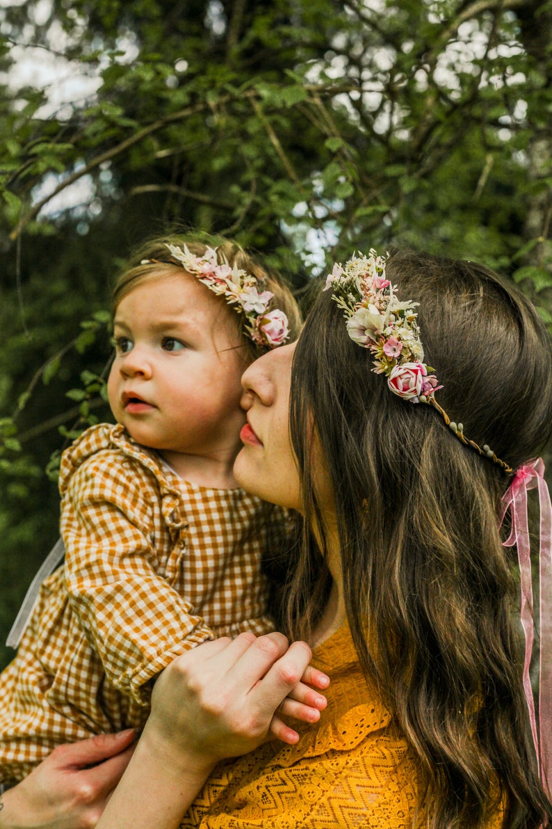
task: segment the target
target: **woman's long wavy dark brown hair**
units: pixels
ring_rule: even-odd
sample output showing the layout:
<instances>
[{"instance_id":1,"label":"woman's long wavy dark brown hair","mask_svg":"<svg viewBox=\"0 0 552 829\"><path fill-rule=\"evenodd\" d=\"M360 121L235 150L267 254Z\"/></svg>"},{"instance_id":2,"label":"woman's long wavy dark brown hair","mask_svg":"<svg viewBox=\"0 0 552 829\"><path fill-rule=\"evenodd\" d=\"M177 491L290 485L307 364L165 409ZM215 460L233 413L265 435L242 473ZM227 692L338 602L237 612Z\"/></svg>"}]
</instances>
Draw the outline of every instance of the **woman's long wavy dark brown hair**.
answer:
<instances>
[{"instance_id":1,"label":"woman's long wavy dark brown hair","mask_svg":"<svg viewBox=\"0 0 552 829\"><path fill-rule=\"evenodd\" d=\"M511 468L552 429L550 339L506 280L471 262L407 252L387 276L420 303L439 404ZM367 677L415 752L431 829L552 826L521 685L511 553L498 529L510 478L466 448L430 406L393 395L349 337L331 291L295 352L291 437L305 531L286 585L286 627L308 636L331 579L309 526L323 521L310 435L318 435L341 542L348 620ZM322 524L323 526L323 524Z\"/></svg>"}]
</instances>

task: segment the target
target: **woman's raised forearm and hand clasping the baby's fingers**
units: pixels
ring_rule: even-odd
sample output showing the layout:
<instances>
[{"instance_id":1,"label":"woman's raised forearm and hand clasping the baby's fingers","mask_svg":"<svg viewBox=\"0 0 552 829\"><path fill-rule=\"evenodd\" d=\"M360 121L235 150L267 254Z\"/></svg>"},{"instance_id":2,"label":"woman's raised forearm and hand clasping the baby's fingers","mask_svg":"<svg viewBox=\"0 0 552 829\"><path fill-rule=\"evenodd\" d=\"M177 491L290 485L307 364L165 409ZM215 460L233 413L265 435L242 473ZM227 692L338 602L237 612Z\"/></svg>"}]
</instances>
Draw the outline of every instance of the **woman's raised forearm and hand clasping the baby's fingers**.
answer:
<instances>
[{"instance_id":1,"label":"woman's raised forearm and hand clasping the baby's fingers","mask_svg":"<svg viewBox=\"0 0 552 829\"><path fill-rule=\"evenodd\" d=\"M305 642L288 647L281 633L242 633L175 659L156 681L150 718L98 829L175 829L219 760L257 748L275 722L295 742L275 712L310 658Z\"/></svg>"}]
</instances>

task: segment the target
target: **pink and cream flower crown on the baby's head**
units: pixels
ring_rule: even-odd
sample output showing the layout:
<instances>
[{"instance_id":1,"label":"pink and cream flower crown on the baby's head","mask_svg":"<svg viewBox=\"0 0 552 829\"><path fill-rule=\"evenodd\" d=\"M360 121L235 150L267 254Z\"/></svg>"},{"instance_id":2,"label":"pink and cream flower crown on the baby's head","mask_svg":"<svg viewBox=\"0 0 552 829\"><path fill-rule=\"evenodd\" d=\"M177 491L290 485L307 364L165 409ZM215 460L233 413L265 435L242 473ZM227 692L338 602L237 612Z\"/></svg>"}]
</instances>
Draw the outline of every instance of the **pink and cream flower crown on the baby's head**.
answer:
<instances>
[{"instance_id":1,"label":"pink and cream flower crown on the baby's head","mask_svg":"<svg viewBox=\"0 0 552 829\"><path fill-rule=\"evenodd\" d=\"M204 255L190 253L187 245L170 245L170 255L188 274L218 296L223 296L228 305L232 305L238 314L245 317L244 331L259 348L276 348L290 336L286 314L280 308L268 310L274 296L271 291L259 293L259 283L252 274L238 268L230 267L226 259L218 261L217 248L207 248ZM149 261L149 260L146 260Z\"/></svg>"}]
</instances>

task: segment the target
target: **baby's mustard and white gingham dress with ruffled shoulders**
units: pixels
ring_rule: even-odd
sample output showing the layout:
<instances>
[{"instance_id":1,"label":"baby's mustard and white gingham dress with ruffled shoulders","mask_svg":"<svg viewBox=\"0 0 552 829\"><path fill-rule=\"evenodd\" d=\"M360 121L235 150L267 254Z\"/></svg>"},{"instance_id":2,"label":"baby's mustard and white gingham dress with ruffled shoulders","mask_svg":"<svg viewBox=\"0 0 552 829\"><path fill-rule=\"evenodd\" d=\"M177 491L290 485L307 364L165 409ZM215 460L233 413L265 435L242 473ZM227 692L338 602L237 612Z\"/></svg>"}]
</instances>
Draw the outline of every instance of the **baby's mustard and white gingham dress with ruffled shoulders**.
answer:
<instances>
[{"instance_id":1,"label":"baby's mustard and white gingham dress with ruffled shoulders","mask_svg":"<svg viewBox=\"0 0 552 829\"><path fill-rule=\"evenodd\" d=\"M57 744L142 728L152 680L190 647L273 628L260 565L284 511L183 481L111 424L64 453L60 492L65 564L0 675L2 783Z\"/></svg>"}]
</instances>

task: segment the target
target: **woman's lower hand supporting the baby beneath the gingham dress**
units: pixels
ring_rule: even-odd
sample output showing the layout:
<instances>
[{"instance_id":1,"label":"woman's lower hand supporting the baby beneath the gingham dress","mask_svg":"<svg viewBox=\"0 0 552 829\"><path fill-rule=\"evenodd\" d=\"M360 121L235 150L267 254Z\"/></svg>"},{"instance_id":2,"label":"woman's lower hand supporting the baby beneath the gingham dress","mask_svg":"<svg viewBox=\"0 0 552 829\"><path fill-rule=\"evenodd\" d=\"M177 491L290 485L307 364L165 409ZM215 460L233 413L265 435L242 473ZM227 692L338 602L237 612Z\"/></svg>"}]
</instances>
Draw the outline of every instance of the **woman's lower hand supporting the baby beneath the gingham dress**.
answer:
<instances>
[{"instance_id":1,"label":"woman's lower hand supporting the baby beneath the gingham dress","mask_svg":"<svg viewBox=\"0 0 552 829\"><path fill-rule=\"evenodd\" d=\"M95 827L134 750L134 731L60 745L2 795L0 829Z\"/></svg>"}]
</instances>

